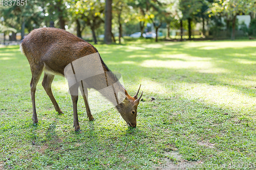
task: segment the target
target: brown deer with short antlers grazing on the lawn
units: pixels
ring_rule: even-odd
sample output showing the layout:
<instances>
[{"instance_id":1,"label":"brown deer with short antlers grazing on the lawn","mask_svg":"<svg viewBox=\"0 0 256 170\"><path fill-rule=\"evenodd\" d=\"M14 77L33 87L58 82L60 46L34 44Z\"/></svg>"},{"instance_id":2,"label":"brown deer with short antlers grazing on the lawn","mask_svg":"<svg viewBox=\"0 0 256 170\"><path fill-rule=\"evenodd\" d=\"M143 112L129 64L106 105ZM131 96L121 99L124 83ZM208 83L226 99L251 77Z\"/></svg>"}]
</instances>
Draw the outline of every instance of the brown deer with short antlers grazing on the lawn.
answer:
<instances>
[{"instance_id":1,"label":"brown deer with short antlers grazing on the lawn","mask_svg":"<svg viewBox=\"0 0 256 170\"><path fill-rule=\"evenodd\" d=\"M31 31L23 39L20 43L20 52L27 57L32 74L30 92L34 125L38 124L35 106L36 86L44 71L42 86L58 114L63 114L63 112L53 96L51 85L56 75L68 79L73 104L73 127L76 132L81 131L77 114L79 89L86 105L87 117L90 121L94 120L88 103L88 89L90 88L99 91L107 99L112 96L110 102L115 105L126 125L136 128L137 107L143 91L139 98L140 87L133 97L129 95L125 87L118 81L116 75L103 62L97 49L92 44L65 30L39 28ZM82 60L83 62L81 62ZM84 65L86 66L84 67ZM90 70L87 69L87 66L90 67ZM81 69L79 69L80 67ZM77 69L80 71L78 71L80 75L88 75L87 72L94 73L99 72L99 70L101 72L98 75L78 80L79 74L75 71ZM72 77L75 77L75 82Z\"/></svg>"}]
</instances>

